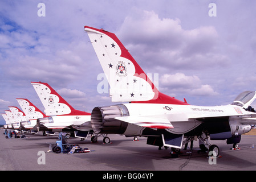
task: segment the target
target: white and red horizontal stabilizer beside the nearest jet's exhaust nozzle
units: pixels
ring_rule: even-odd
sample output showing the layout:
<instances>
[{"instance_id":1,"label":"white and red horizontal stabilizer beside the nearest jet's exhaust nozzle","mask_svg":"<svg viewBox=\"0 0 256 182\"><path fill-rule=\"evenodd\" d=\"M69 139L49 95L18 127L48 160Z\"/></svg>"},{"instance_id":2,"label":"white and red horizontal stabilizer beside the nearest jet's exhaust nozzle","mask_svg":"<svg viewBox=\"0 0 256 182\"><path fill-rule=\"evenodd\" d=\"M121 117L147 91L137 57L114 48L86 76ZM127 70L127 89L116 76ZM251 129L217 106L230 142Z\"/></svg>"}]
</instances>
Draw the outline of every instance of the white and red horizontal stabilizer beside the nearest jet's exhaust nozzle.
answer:
<instances>
[{"instance_id":1,"label":"white and red horizontal stabilizer beside the nearest jet's exhaust nozzle","mask_svg":"<svg viewBox=\"0 0 256 182\"><path fill-rule=\"evenodd\" d=\"M165 118L156 117L115 117L120 121L131 123L133 125L138 125L141 127L150 127L153 129L173 129L173 125Z\"/></svg>"}]
</instances>

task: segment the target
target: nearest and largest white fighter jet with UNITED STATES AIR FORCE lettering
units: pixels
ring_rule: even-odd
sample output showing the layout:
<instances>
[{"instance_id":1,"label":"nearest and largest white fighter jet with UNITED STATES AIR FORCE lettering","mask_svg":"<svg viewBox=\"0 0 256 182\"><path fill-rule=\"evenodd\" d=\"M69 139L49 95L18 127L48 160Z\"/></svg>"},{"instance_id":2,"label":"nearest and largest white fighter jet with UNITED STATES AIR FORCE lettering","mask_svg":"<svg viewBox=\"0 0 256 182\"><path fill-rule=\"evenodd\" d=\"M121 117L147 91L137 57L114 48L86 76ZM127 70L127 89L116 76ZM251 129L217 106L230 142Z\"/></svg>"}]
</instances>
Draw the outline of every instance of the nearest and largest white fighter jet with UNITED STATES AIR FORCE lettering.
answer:
<instances>
[{"instance_id":1,"label":"nearest and largest white fighter jet with UNITED STATES AIR FORCE lettering","mask_svg":"<svg viewBox=\"0 0 256 182\"><path fill-rule=\"evenodd\" d=\"M103 29L85 26L90 42L108 79L112 102L128 102L98 106L92 110L95 133L147 137L147 144L180 150L194 139L200 148L220 154L212 140L225 140L238 148L241 135L256 123L250 104L255 91L239 94L224 106L189 105L167 96L156 88L117 36Z\"/></svg>"}]
</instances>

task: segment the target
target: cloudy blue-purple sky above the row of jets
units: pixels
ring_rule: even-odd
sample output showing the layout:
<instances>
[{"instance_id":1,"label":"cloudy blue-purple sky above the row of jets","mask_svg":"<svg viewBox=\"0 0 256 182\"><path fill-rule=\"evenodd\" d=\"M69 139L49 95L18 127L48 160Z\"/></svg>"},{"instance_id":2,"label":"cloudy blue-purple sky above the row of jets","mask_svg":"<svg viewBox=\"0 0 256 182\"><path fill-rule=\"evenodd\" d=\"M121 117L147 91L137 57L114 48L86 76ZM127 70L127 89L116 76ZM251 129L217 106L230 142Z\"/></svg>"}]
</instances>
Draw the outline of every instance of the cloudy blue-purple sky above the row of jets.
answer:
<instances>
[{"instance_id":1,"label":"cloudy blue-purple sky above the row of jets","mask_svg":"<svg viewBox=\"0 0 256 182\"><path fill-rule=\"evenodd\" d=\"M43 3L44 6L42 6ZM256 1L0 1L0 113L47 82L75 109L108 106L84 26L113 32L162 93L226 105L256 90ZM20 107L19 107L20 108ZM0 118L0 124L4 124Z\"/></svg>"}]
</instances>

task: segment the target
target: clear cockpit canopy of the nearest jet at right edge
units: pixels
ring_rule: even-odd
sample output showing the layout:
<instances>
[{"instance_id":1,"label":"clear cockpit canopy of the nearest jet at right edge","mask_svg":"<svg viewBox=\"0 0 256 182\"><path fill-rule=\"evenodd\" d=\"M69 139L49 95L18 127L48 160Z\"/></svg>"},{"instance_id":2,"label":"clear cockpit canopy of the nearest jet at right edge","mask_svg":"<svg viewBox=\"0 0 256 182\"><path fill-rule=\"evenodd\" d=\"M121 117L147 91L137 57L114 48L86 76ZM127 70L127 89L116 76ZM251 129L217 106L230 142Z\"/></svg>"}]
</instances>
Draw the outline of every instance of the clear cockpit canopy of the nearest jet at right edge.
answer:
<instances>
[{"instance_id":1,"label":"clear cockpit canopy of the nearest jet at right edge","mask_svg":"<svg viewBox=\"0 0 256 182\"><path fill-rule=\"evenodd\" d=\"M235 98L232 105L241 106L244 108L247 108L256 98L256 92L255 91L245 91L242 92Z\"/></svg>"}]
</instances>

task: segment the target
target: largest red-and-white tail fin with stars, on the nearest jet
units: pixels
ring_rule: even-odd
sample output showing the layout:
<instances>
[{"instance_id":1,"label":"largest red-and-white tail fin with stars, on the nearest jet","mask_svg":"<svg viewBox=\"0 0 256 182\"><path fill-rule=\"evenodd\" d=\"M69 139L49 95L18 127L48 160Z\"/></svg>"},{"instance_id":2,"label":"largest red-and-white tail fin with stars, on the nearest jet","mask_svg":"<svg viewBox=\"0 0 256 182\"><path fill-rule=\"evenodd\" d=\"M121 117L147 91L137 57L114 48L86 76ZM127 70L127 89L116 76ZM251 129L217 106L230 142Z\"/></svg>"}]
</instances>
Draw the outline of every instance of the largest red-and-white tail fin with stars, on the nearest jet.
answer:
<instances>
[{"instance_id":1,"label":"largest red-and-white tail fin with stars, on the nearest jet","mask_svg":"<svg viewBox=\"0 0 256 182\"><path fill-rule=\"evenodd\" d=\"M186 104L159 92L115 34L85 26L110 85L112 102Z\"/></svg>"}]
</instances>

